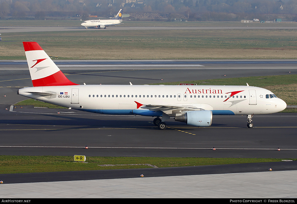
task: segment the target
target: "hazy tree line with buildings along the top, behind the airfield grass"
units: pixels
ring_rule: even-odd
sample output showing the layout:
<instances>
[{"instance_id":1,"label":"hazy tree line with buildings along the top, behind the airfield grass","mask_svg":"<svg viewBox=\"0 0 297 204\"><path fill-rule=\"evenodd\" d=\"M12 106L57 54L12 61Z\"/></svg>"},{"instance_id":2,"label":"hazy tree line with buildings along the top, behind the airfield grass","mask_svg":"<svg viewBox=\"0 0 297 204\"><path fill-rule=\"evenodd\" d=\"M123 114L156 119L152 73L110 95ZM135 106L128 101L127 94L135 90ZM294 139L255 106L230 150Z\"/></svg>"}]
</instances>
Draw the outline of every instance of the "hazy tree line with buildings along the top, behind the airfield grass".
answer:
<instances>
[{"instance_id":1,"label":"hazy tree line with buildings along the top, behind the airfield grass","mask_svg":"<svg viewBox=\"0 0 297 204\"><path fill-rule=\"evenodd\" d=\"M113 17L120 8L124 13L166 14L189 21L297 20L296 0L136 0L130 4L126 0L0 0L0 18L79 16L85 20L89 15Z\"/></svg>"}]
</instances>

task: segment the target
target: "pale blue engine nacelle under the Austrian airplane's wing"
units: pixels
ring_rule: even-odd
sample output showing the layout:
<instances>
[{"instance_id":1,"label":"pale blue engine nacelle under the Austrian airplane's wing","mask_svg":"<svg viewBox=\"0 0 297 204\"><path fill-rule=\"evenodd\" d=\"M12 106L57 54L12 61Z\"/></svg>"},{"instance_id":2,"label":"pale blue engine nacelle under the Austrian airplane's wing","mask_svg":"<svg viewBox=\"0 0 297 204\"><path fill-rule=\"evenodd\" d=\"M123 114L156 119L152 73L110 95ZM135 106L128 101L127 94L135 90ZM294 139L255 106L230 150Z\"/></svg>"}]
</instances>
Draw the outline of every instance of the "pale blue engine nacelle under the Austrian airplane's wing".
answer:
<instances>
[{"instance_id":1,"label":"pale blue engine nacelle under the Austrian airplane's wing","mask_svg":"<svg viewBox=\"0 0 297 204\"><path fill-rule=\"evenodd\" d=\"M208 110L187 111L183 115L176 116L175 120L187 123L187 125L207 127L212 123L212 112Z\"/></svg>"}]
</instances>

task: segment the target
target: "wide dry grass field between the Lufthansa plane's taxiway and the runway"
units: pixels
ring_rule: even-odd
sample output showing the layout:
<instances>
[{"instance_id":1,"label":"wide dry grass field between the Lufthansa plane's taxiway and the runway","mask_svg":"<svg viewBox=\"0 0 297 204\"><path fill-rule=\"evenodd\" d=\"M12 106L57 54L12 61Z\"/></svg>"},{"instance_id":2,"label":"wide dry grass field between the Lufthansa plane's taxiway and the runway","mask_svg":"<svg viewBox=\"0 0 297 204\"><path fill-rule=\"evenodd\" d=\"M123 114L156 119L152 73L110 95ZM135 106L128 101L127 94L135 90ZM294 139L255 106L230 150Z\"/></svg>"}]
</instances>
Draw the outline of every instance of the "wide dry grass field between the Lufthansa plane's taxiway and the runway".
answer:
<instances>
[{"instance_id":1,"label":"wide dry grass field between the Lufthansa plane's taxiway and the runway","mask_svg":"<svg viewBox=\"0 0 297 204\"><path fill-rule=\"evenodd\" d=\"M179 29L7 32L0 59L26 59L35 41L59 59L296 59L296 29Z\"/></svg>"}]
</instances>

